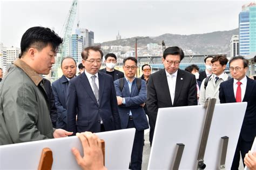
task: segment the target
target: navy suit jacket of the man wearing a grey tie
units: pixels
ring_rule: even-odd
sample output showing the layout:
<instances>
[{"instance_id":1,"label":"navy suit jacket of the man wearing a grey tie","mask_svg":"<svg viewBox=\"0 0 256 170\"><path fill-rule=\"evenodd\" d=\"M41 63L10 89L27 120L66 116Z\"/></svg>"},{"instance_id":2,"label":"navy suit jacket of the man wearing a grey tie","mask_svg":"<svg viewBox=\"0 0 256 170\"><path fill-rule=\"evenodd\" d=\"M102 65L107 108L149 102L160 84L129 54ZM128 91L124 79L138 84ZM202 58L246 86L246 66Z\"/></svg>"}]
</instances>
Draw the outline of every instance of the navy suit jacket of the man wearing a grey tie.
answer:
<instances>
[{"instance_id":1,"label":"navy suit jacket of the man wearing a grey tie","mask_svg":"<svg viewBox=\"0 0 256 170\"><path fill-rule=\"evenodd\" d=\"M117 108L117 95L113 79L98 72L99 104L93 94L85 72L73 78L68 88L68 131L100 132L100 118L106 131L119 130L120 117ZM76 120L77 115L77 120Z\"/></svg>"}]
</instances>

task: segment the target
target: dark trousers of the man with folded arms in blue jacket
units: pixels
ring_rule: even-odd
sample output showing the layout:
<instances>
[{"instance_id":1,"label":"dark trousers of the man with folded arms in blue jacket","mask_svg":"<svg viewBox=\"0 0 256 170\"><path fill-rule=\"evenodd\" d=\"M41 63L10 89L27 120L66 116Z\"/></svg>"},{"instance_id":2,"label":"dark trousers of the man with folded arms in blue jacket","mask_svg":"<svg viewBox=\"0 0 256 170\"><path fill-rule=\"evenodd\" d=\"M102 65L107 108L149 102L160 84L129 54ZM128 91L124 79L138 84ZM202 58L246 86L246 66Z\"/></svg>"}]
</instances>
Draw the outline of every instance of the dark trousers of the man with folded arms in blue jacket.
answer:
<instances>
[{"instance_id":1,"label":"dark trousers of the man with folded arms in blue jacket","mask_svg":"<svg viewBox=\"0 0 256 170\"><path fill-rule=\"evenodd\" d=\"M129 120L127 128L135 127L133 120ZM142 154L143 154L143 144L144 144L144 131L135 132L133 146L132 146L132 156L130 169L142 169Z\"/></svg>"}]
</instances>

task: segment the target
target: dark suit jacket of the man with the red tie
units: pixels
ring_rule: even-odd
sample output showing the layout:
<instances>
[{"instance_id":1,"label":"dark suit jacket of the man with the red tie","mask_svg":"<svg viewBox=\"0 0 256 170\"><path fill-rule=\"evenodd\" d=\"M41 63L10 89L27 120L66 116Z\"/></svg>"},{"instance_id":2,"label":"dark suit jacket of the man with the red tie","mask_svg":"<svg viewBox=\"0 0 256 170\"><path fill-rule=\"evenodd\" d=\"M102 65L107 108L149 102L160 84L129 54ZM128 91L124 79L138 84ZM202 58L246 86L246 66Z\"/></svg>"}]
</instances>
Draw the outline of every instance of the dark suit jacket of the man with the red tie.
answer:
<instances>
[{"instance_id":1,"label":"dark suit jacket of the man with the red tie","mask_svg":"<svg viewBox=\"0 0 256 170\"><path fill-rule=\"evenodd\" d=\"M220 84L220 103L235 103L233 88L234 79ZM247 77L245 96L242 101L247 102L244 121L240 135L245 141L253 141L256 135L256 81Z\"/></svg>"}]
</instances>

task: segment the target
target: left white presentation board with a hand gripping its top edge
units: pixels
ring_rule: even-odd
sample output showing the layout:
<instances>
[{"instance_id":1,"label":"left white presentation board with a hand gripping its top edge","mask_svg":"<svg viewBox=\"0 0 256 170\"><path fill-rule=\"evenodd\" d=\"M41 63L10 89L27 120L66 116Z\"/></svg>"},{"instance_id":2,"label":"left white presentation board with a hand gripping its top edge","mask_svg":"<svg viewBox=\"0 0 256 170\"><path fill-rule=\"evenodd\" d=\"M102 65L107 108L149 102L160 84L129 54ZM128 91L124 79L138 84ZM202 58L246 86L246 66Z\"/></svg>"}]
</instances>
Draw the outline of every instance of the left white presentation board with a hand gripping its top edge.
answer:
<instances>
[{"instance_id":1,"label":"left white presentation board with a hand gripping its top edge","mask_svg":"<svg viewBox=\"0 0 256 170\"><path fill-rule=\"evenodd\" d=\"M96 134L105 141L105 166L129 169L135 128ZM72 147L77 147L82 154L76 136L0 146L0 169L37 169L44 147L52 150L52 169L80 169L71 152Z\"/></svg>"}]
</instances>

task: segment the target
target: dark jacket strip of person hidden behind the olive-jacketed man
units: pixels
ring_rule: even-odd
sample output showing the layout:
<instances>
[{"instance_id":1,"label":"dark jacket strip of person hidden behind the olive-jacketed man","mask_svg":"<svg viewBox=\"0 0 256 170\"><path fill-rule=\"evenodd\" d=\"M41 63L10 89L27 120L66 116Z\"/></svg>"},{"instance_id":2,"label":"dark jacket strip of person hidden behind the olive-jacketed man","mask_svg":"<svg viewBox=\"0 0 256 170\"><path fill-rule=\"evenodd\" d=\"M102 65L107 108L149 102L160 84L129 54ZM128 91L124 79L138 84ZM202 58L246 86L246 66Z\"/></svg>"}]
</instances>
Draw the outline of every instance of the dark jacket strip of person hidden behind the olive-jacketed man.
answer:
<instances>
[{"instance_id":1,"label":"dark jacket strip of person hidden behind the olive-jacketed man","mask_svg":"<svg viewBox=\"0 0 256 170\"><path fill-rule=\"evenodd\" d=\"M48 79L43 78L44 90L48 97L48 102L50 105L50 116L52 127L56 128L57 121L57 108L55 106L55 97L52 92L51 82Z\"/></svg>"}]
</instances>

